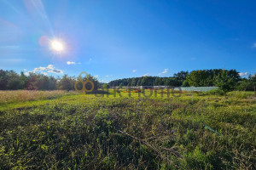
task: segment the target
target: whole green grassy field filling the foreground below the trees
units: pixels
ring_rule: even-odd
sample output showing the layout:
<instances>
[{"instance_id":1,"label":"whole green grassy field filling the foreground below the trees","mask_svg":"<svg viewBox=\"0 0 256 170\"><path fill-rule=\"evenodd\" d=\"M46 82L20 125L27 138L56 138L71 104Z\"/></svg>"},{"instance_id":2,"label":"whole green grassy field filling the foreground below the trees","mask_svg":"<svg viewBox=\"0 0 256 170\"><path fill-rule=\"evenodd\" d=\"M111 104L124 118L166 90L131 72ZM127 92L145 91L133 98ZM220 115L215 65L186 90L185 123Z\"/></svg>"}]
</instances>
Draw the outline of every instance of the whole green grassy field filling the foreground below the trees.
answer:
<instances>
[{"instance_id":1,"label":"whole green grassy field filling the foreground below the trees","mask_svg":"<svg viewBox=\"0 0 256 170\"><path fill-rule=\"evenodd\" d=\"M0 94L0 169L256 169L253 93Z\"/></svg>"}]
</instances>

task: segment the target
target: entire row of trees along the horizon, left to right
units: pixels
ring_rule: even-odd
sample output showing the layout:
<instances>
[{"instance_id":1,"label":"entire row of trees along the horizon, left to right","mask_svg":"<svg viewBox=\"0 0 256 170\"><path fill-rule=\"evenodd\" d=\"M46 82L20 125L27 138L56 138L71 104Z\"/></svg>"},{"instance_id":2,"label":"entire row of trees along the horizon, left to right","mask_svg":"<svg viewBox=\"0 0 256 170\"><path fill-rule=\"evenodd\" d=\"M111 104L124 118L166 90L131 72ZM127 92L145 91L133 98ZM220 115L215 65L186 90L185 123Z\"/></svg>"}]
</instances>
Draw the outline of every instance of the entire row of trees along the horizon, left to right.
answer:
<instances>
[{"instance_id":1,"label":"entire row of trees along the horizon, left to right","mask_svg":"<svg viewBox=\"0 0 256 170\"><path fill-rule=\"evenodd\" d=\"M84 75L85 76L85 75ZM86 77L82 81L85 81ZM101 88L102 83L96 77L90 76L90 81L94 83L94 89ZM0 70L0 90L74 90L78 77L48 77L42 74L29 73L23 71L18 74L15 71ZM254 90L256 86L256 75L249 75L241 78L236 70L197 70L179 71L173 77L132 77L113 80L104 85L106 87L137 87L137 86L171 86L171 87L209 87L216 86L224 91L233 89ZM82 83L77 84L77 88L82 88ZM86 84L90 89L90 84Z\"/></svg>"}]
</instances>

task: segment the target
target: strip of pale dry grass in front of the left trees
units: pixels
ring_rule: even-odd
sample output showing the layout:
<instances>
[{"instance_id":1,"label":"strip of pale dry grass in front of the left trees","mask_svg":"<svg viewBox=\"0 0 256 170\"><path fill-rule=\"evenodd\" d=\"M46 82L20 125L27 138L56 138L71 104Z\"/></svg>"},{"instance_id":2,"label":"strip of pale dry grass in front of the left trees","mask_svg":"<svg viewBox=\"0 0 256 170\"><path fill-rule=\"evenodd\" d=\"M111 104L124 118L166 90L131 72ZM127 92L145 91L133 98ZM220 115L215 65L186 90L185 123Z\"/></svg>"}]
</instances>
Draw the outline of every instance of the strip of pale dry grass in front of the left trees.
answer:
<instances>
[{"instance_id":1,"label":"strip of pale dry grass in front of the left trees","mask_svg":"<svg viewBox=\"0 0 256 170\"><path fill-rule=\"evenodd\" d=\"M54 91L34 91L34 90L13 90L0 91L0 104L12 102L25 102L36 99L53 99L66 94L75 94L76 92L67 92L63 90Z\"/></svg>"}]
</instances>

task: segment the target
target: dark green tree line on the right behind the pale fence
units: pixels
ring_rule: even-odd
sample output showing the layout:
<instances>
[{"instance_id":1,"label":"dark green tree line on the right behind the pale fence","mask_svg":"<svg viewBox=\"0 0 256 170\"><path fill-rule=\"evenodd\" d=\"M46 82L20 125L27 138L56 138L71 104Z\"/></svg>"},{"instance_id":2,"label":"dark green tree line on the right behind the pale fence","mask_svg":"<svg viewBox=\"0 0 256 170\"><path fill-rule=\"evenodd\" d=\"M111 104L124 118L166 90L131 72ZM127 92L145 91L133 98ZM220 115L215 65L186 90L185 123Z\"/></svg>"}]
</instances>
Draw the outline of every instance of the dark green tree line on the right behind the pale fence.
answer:
<instances>
[{"instance_id":1,"label":"dark green tree line on the right behind the pale fence","mask_svg":"<svg viewBox=\"0 0 256 170\"><path fill-rule=\"evenodd\" d=\"M210 87L216 86L224 91L231 89L253 90L256 76L241 78L236 70L197 70L179 71L173 77L132 77L108 82L110 87L171 86L171 87Z\"/></svg>"}]
</instances>

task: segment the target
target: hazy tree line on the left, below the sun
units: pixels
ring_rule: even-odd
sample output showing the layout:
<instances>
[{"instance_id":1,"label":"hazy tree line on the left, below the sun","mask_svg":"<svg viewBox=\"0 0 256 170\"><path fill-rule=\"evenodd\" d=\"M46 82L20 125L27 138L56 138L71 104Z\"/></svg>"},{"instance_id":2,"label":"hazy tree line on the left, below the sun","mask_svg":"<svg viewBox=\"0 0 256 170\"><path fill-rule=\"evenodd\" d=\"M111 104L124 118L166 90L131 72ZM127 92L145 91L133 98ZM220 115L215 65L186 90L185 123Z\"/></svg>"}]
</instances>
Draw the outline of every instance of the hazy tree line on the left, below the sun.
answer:
<instances>
[{"instance_id":1,"label":"hazy tree line on the left, below the sun","mask_svg":"<svg viewBox=\"0 0 256 170\"><path fill-rule=\"evenodd\" d=\"M84 76L84 75L83 75ZM85 81L86 77L82 81ZM99 88L100 82L96 77L89 75L89 80L94 83L94 89ZM79 81L79 77L48 77L43 74L29 73L26 75L23 71L18 74L15 71L0 70L0 90L75 90L75 82ZM77 84L78 89L82 89L82 83ZM86 88L90 89L90 83L86 84Z\"/></svg>"}]
</instances>

